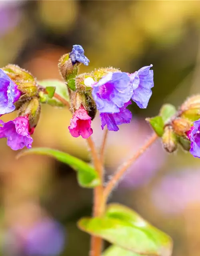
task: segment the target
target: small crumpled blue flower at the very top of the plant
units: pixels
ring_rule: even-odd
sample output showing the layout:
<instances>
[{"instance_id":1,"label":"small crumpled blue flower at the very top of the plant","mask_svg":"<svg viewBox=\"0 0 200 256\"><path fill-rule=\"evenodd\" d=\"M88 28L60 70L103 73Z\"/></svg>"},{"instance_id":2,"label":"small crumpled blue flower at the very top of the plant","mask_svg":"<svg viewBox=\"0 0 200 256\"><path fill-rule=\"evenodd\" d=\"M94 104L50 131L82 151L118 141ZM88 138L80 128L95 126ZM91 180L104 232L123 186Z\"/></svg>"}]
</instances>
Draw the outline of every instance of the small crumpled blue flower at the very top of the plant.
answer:
<instances>
[{"instance_id":1,"label":"small crumpled blue flower at the very top of the plant","mask_svg":"<svg viewBox=\"0 0 200 256\"><path fill-rule=\"evenodd\" d=\"M88 60L88 58L84 55L84 49L79 44L73 45L72 52L70 52L70 58L72 60L72 64L80 62L88 66L90 62L90 60Z\"/></svg>"}]
</instances>

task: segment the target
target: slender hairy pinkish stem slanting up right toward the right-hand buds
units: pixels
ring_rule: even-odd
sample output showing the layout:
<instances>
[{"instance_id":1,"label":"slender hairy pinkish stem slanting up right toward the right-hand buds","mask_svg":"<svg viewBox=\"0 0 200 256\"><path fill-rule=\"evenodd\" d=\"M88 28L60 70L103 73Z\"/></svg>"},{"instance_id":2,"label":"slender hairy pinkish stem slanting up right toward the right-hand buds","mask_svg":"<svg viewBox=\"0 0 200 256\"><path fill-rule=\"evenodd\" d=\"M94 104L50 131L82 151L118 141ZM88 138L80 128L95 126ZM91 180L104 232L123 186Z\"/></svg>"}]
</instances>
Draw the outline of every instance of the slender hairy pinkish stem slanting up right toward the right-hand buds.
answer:
<instances>
[{"instance_id":1,"label":"slender hairy pinkish stem slanting up right toward the right-hand buds","mask_svg":"<svg viewBox=\"0 0 200 256\"><path fill-rule=\"evenodd\" d=\"M153 134L150 139L132 156L125 164L123 164L122 168L116 174L112 177L110 182L108 182L108 185L104 189L104 204L108 200L108 196L112 192L113 188L116 186L116 184L119 182L120 178L124 175L124 173L127 171L127 169L132 165L132 163L137 160L152 144L153 142L158 138L156 134Z\"/></svg>"}]
</instances>

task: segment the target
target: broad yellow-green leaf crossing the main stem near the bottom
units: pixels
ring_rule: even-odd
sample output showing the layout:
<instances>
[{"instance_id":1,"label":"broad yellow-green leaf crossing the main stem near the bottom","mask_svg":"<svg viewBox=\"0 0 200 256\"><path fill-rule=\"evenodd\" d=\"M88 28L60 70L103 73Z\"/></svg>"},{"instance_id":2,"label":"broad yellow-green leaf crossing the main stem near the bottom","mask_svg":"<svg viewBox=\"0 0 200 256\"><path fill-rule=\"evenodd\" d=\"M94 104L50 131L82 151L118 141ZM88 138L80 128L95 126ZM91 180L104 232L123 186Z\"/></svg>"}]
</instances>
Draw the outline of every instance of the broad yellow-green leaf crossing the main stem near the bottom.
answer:
<instances>
[{"instance_id":1,"label":"broad yellow-green leaf crossing the main stem near the bottom","mask_svg":"<svg viewBox=\"0 0 200 256\"><path fill-rule=\"evenodd\" d=\"M110 204L101 218L82 218L78 226L89 234L138 254L170 256L172 252L172 240L168 235L120 204Z\"/></svg>"}]
</instances>

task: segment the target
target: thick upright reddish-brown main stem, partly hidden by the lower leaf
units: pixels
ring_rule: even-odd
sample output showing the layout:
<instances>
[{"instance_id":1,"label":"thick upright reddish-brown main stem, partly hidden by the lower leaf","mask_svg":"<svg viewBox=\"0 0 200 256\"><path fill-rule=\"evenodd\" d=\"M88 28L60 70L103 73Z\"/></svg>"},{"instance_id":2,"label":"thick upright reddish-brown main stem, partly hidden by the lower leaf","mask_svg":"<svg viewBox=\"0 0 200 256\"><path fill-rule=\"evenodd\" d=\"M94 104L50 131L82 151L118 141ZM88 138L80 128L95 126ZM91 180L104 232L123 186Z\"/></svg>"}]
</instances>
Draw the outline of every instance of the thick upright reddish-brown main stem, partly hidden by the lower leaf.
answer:
<instances>
[{"instance_id":1,"label":"thick upright reddish-brown main stem, partly hidden by the lower leaf","mask_svg":"<svg viewBox=\"0 0 200 256\"><path fill-rule=\"evenodd\" d=\"M92 154L92 160L94 163L94 167L96 171L98 172L101 180L101 185L94 188L94 202L93 202L93 216L99 217L104 214L105 211L105 204L103 203L103 166L102 162L98 156L98 152L96 150L96 147L94 145L94 141L92 140L91 136L87 139L88 146L90 147L91 154ZM100 256L102 252L102 238L97 236L92 236L91 238L91 248L90 248L90 256Z\"/></svg>"}]
</instances>

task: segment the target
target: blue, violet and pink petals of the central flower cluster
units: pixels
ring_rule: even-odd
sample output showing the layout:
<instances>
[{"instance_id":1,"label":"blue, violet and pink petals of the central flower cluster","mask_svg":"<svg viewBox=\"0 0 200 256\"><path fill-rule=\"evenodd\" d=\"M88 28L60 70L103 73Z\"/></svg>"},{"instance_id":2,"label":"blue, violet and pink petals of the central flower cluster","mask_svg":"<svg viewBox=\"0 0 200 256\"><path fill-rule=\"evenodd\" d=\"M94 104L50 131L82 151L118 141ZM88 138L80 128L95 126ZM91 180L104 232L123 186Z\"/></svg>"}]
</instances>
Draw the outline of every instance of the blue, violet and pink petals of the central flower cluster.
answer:
<instances>
[{"instance_id":1,"label":"blue, violet and pink petals of the central flower cluster","mask_svg":"<svg viewBox=\"0 0 200 256\"><path fill-rule=\"evenodd\" d=\"M78 45L73 47L70 58L72 63L78 61L88 65L89 62L86 61L88 59L84 56L84 50ZM145 66L133 74L120 71L109 72L92 84L92 97L100 112L102 130L107 125L108 130L118 131L120 124L130 123L132 114L126 107L131 104L131 99L139 108L147 107L152 95L151 88L154 86L151 67L152 65ZM74 112L69 131L74 137L81 135L83 138L88 138L92 134L91 118L86 110L84 118L82 117L84 106L79 110Z\"/></svg>"}]
</instances>

